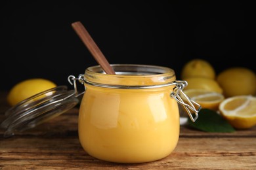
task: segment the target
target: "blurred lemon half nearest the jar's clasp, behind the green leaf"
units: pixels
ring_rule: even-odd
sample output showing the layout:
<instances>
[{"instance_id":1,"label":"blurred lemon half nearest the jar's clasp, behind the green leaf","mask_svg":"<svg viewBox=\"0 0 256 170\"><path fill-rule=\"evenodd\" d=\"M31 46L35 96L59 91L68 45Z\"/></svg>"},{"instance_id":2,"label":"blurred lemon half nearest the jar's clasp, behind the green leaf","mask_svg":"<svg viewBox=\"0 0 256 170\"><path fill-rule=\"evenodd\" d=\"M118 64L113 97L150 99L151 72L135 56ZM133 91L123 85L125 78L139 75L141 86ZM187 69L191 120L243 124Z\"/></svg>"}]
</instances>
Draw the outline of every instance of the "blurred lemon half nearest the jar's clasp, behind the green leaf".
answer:
<instances>
[{"instance_id":1,"label":"blurred lemon half nearest the jar's clasp, behind the green leaf","mask_svg":"<svg viewBox=\"0 0 256 170\"><path fill-rule=\"evenodd\" d=\"M218 92L211 92L205 89L188 89L183 92L196 101L203 109L218 110L221 101L224 100L224 95Z\"/></svg>"}]
</instances>

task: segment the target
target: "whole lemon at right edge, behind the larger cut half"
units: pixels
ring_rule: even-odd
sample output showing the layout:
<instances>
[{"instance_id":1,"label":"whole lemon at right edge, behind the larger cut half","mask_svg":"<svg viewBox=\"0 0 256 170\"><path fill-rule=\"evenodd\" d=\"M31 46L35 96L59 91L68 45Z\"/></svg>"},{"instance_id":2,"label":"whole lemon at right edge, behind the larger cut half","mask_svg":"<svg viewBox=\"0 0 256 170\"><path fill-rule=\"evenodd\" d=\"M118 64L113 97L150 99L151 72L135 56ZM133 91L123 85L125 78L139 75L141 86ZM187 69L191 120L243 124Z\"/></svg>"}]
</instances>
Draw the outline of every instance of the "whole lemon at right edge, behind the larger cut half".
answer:
<instances>
[{"instance_id":1,"label":"whole lemon at right edge, behind the larger cut half","mask_svg":"<svg viewBox=\"0 0 256 170\"><path fill-rule=\"evenodd\" d=\"M223 88L225 97L255 95L256 75L245 67L231 67L217 75L217 82Z\"/></svg>"}]
</instances>

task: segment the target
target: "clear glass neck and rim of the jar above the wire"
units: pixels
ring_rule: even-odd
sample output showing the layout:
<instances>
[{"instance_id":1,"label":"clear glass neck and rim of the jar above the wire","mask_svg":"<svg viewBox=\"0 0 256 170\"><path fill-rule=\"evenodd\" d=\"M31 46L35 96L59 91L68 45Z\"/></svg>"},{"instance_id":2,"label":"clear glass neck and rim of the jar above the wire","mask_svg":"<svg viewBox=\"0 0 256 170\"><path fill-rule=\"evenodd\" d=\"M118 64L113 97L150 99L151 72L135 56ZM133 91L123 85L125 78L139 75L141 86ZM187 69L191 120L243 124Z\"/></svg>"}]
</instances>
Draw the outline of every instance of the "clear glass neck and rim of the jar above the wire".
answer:
<instances>
[{"instance_id":1,"label":"clear glass neck and rim of the jar above the wire","mask_svg":"<svg viewBox=\"0 0 256 170\"><path fill-rule=\"evenodd\" d=\"M155 65L111 65L116 75L107 75L100 65L89 67L85 71L85 83L107 86L165 86L176 80L175 72L168 67Z\"/></svg>"}]
</instances>

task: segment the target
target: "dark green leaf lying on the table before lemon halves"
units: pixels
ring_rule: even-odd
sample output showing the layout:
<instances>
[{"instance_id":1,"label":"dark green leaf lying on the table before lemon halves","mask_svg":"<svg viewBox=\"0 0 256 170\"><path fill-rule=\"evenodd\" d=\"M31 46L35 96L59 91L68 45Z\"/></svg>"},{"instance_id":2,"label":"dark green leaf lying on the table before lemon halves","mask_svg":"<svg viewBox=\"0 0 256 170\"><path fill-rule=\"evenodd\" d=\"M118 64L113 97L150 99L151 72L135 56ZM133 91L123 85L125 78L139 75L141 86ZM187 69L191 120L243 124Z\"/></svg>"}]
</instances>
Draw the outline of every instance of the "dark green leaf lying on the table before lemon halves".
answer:
<instances>
[{"instance_id":1,"label":"dark green leaf lying on the table before lemon halves","mask_svg":"<svg viewBox=\"0 0 256 170\"><path fill-rule=\"evenodd\" d=\"M198 112L198 119L192 122L188 118L188 126L207 132L234 132L236 131L220 114L215 110L201 109Z\"/></svg>"}]
</instances>

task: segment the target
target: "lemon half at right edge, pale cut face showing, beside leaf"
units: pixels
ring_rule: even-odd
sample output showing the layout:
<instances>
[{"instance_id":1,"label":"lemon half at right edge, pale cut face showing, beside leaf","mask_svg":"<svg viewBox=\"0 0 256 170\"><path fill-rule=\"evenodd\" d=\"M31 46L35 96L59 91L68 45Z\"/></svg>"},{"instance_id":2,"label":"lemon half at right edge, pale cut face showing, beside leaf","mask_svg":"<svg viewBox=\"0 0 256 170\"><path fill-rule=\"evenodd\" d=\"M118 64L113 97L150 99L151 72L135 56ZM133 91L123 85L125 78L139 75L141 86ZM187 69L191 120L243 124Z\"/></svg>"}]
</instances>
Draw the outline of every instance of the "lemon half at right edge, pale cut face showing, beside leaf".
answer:
<instances>
[{"instance_id":1,"label":"lemon half at right edge, pale cut face showing, beside leaf","mask_svg":"<svg viewBox=\"0 0 256 170\"><path fill-rule=\"evenodd\" d=\"M219 111L236 129L247 129L256 125L256 97L238 95L224 99Z\"/></svg>"}]
</instances>

